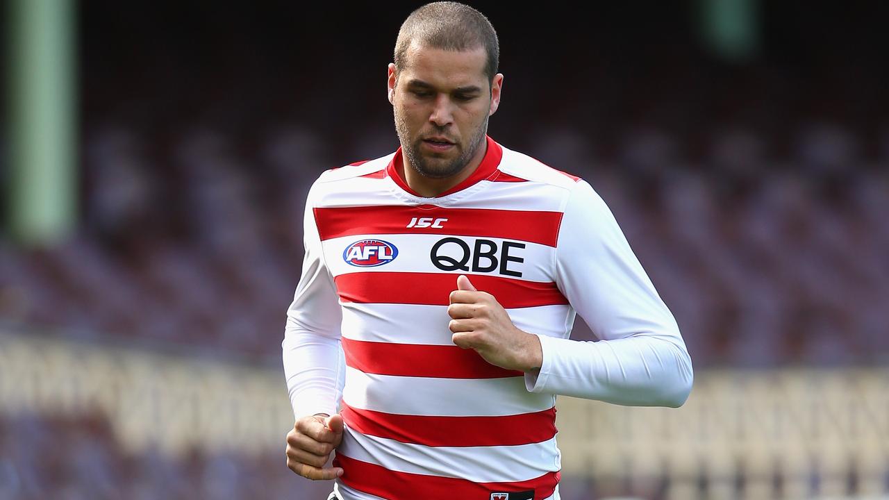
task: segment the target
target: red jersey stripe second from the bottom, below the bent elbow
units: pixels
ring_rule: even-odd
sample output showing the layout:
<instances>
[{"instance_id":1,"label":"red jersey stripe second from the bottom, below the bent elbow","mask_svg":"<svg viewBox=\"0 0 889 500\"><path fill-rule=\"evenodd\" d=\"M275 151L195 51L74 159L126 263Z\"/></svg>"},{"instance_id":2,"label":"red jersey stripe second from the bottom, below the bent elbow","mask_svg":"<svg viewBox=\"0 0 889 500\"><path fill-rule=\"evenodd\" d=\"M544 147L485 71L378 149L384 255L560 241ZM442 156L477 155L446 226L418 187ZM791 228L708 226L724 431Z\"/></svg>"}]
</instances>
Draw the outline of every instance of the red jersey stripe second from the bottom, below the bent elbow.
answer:
<instances>
[{"instance_id":1,"label":"red jersey stripe second from the bottom, below the bent elbow","mask_svg":"<svg viewBox=\"0 0 889 500\"><path fill-rule=\"evenodd\" d=\"M340 415L362 434L428 447L517 446L556 435L556 407L521 415L426 416L365 410L343 401Z\"/></svg>"}]
</instances>

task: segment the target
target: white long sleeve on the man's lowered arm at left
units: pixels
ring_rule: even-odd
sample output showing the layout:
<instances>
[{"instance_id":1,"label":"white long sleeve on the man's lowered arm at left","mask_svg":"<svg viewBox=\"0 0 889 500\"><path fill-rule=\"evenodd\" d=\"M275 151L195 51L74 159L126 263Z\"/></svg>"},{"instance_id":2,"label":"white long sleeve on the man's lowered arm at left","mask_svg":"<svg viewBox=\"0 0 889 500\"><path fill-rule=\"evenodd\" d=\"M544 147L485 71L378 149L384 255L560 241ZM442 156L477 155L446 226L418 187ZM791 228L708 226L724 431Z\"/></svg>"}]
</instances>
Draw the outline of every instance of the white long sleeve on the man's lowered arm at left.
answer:
<instances>
[{"instance_id":1,"label":"white long sleeve on the man's lowered arm at left","mask_svg":"<svg viewBox=\"0 0 889 500\"><path fill-rule=\"evenodd\" d=\"M314 191L308 193L303 222L302 276L287 310L281 343L287 391L297 418L336 413L345 374L340 349L342 313L318 237Z\"/></svg>"}]
</instances>

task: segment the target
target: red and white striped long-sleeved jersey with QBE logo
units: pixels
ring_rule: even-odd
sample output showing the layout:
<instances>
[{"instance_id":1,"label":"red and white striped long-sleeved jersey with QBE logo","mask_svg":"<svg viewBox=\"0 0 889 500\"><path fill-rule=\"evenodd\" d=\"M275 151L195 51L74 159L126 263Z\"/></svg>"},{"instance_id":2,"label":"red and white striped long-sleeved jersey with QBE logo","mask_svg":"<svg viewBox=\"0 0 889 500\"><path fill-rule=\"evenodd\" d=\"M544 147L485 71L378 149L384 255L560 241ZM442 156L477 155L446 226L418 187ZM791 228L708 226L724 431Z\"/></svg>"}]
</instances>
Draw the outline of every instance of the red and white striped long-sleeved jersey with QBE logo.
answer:
<instances>
[{"instance_id":1,"label":"red and white striped long-sleeved jersey with QBE logo","mask_svg":"<svg viewBox=\"0 0 889 500\"><path fill-rule=\"evenodd\" d=\"M288 310L294 415L345 423L343 500L557 499L556 395L681 405L691 359L589 183L487 139L469 179L421 198L401 150L325 172L308 194ZM452 343L456 278L538 335L539 373ZM569 339L575 311L600 339Z\"/></svg>"}]
</instances>

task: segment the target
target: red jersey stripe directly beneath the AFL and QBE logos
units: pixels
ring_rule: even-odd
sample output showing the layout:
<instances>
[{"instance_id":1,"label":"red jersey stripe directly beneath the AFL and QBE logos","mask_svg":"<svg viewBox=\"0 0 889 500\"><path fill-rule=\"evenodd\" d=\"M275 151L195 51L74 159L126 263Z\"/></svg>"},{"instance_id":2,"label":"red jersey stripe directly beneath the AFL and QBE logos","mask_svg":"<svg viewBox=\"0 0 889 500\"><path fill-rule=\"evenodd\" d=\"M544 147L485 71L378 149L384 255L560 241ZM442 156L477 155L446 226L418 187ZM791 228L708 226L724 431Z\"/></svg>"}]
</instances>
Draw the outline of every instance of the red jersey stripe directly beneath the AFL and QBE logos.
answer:
<instances>
[{"instance_id":1,"label":"red jersey stripe directly beneath the AFL and QBE logos","mask_svg":"<svg viewBox=\"0 0 889 500\"><path fill-rule=\"evenodd\" d=\"M555 283L468 275L505 309L568 303ZM450 305L457 275L435 272L352 272L334 278L342 302Z\"/></svg>"}]
</instances>

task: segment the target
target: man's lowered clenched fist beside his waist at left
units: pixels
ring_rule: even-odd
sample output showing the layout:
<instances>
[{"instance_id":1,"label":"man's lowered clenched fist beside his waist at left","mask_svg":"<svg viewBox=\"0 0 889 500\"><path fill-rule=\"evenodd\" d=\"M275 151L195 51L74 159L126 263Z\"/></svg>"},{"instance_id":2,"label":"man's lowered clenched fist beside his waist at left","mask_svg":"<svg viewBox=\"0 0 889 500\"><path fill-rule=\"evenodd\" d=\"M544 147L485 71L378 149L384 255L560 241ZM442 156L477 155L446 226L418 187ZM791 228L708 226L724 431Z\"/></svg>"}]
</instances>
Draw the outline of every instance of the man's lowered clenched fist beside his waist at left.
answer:
<instances>
[{"instance_id":1,"label":"man's lowered clenched fist beside his waist at left","mask_svg":"<svg viewBox=\"0 0 889 500\"><path fill-rule=\"evenodd\" d=\"M310 480L332 480L342 475L340 467L326 467L334 448L342 442L340 415L304 416L287 432L287 467Z\"/></svg>"}]
</instances>

